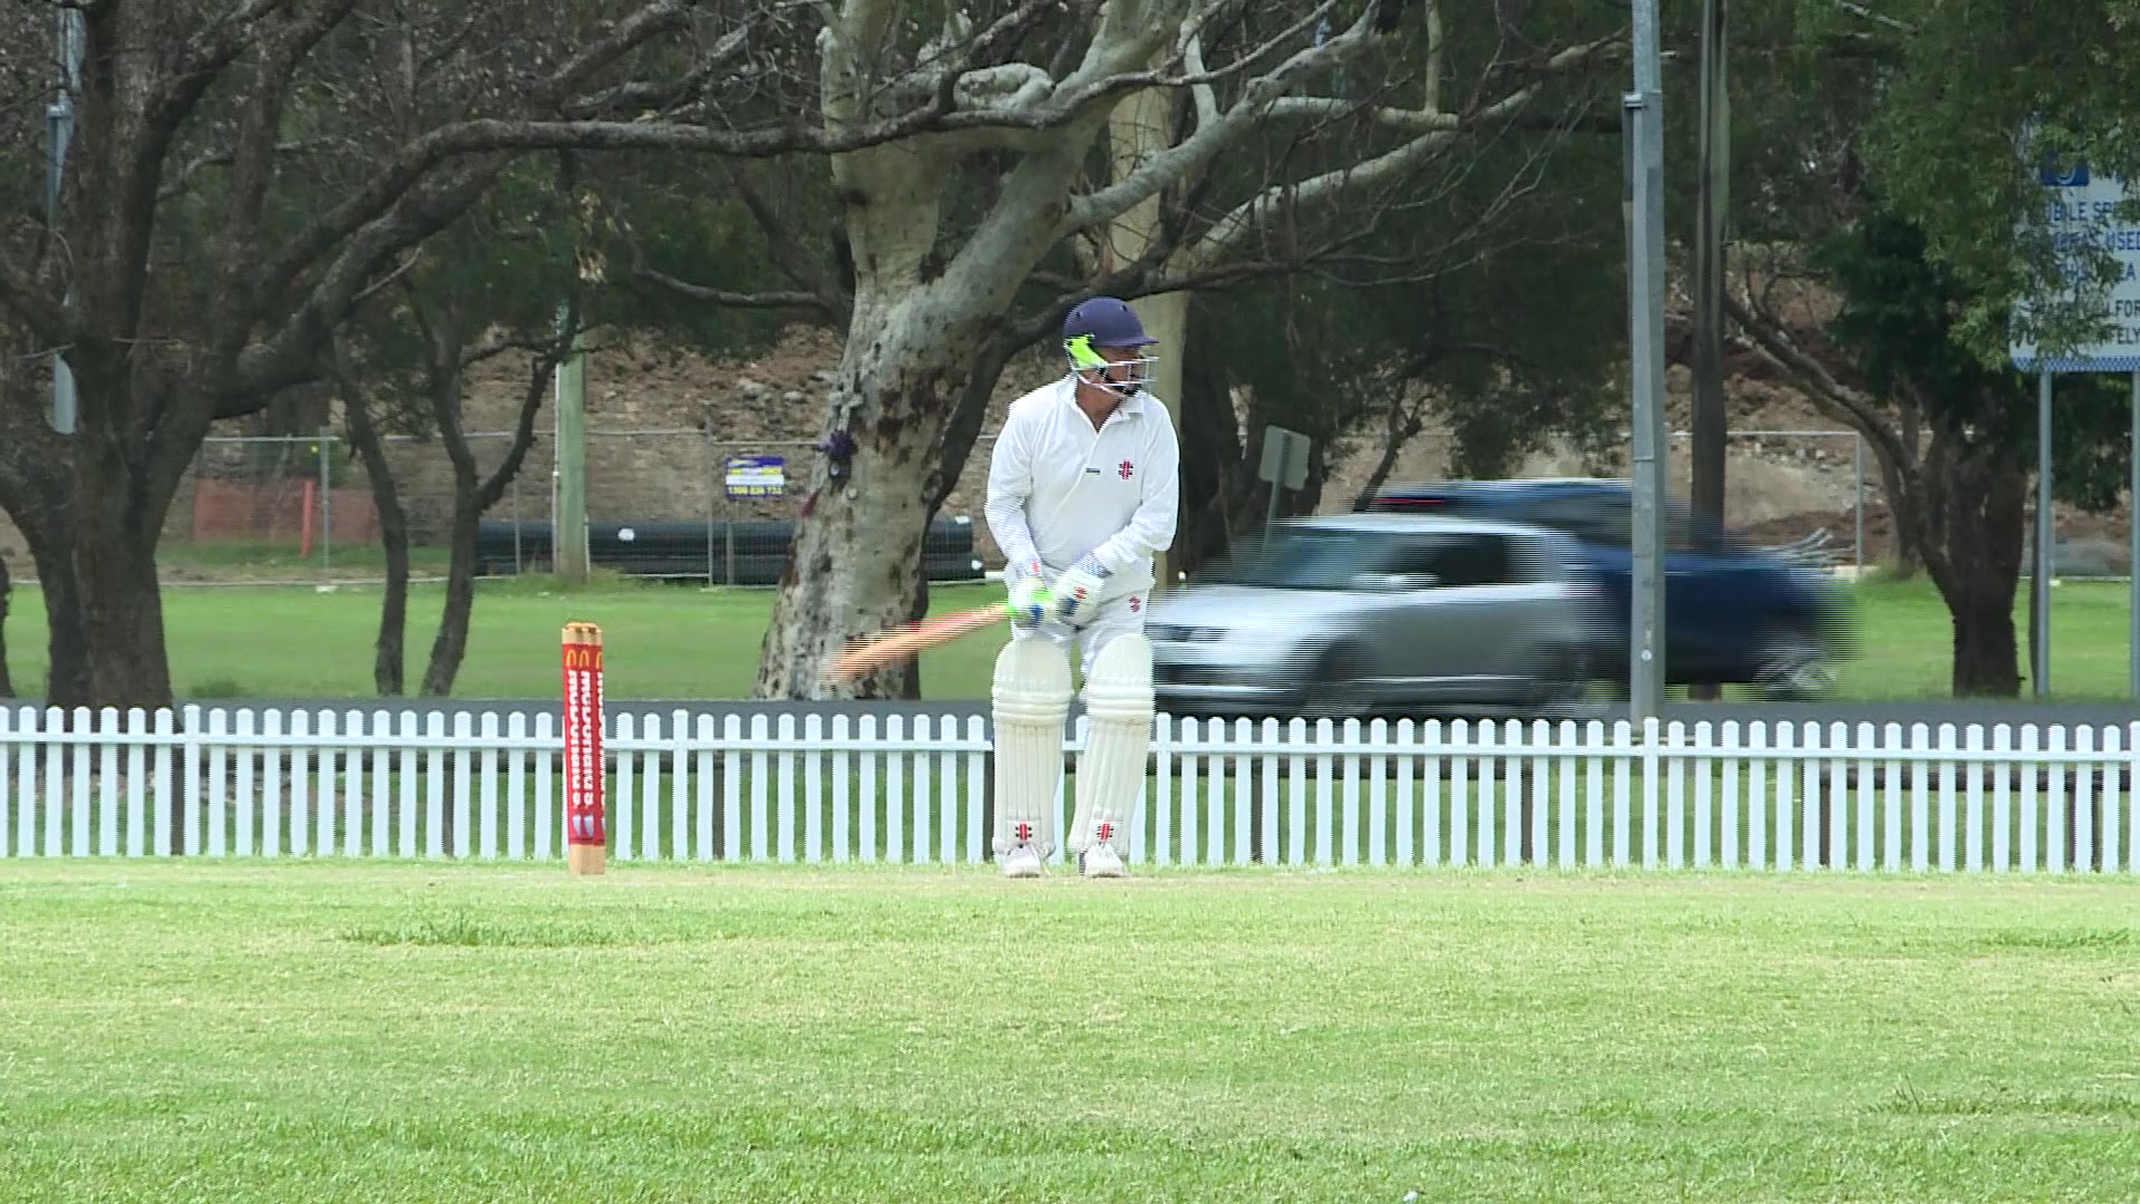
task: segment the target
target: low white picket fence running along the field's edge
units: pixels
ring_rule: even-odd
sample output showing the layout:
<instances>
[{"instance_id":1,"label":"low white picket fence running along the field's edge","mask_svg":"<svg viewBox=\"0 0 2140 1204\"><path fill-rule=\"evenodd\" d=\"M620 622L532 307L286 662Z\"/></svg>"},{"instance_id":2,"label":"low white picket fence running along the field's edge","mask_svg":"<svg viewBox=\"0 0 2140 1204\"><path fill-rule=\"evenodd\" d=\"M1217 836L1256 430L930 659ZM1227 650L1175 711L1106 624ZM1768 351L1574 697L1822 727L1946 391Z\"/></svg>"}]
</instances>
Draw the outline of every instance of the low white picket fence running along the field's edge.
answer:
<instances>
[{"instance_id":1,"label":"low white picket fence running along the field's edge","mask_svg":"<svg viewBox=\"0 0 2140 1204\"><path fill-rule=\"evenodd\" d=\"M623 861L989 859L978 716L612 716L606 748ZM561 752L548 713L0 709L0 853L556 859ZM1162 716L1130 859L2129 874L2136 763L2140 724Z\"/></svg>"}]
</instances>

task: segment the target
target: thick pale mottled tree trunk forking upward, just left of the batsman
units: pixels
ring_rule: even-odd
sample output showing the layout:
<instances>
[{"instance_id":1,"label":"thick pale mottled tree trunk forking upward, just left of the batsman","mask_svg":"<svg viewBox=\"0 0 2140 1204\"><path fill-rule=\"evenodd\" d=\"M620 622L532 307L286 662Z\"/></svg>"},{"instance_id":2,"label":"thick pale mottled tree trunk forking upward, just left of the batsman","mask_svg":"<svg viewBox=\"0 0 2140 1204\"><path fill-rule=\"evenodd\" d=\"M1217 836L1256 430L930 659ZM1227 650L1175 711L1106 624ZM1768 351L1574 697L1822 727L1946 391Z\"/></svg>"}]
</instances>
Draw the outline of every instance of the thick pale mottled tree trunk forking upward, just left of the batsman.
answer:
<instances>
[{"instance_id":1,"label":"thick pale mottled tree trunk forking upward, just left of the batsman","mask_svg":"<svg viewBox=\"0 0 2140 1204\"><path fill-rule=\"evenodd\" d=\"M867 32L867 30L847 30ZM830 36L826 118L862 116L869 39ZM1134 47L1132 47L1134 49ZM1147 45L1138 60L1151 51ZM946 261L942 191L957 139L832 156L832 184L854 255L847 349L824 433L854 441L852 461L822 456L760 651L758 698L901 698L912 664L826 683L820 671L847 641L905 621L922 598L931 476L944 465L969 368L1040 257L1061 240L1064 199L1098 133L1070 122L1002 176L989 214ZM832 478L832 471L839 478Z\"/></svg>"}]
</instances>

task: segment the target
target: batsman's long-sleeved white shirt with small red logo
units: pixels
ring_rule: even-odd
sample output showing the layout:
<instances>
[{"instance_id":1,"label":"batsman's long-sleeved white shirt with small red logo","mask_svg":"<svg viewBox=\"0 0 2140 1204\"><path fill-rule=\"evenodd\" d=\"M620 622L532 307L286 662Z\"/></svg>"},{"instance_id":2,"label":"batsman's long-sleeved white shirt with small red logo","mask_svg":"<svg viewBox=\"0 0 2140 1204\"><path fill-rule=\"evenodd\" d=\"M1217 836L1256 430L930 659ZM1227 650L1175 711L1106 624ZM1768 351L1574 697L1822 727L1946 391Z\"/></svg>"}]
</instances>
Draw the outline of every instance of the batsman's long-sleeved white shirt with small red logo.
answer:
<instances>
[{"instance_id":1,"label":"batsman's long-sleeved white shirt with small red logo","mask_svg":"<svg viewBox=\"0 0 2140 1204\"><path fill-rule=\"evenodd\" d=\"M1049 578L1094 553L1113 576L1102 598L1151 589L1151 557L1175 542L1181 448L1166 405L1138 392L1100 424L1076 405L1076 377L1010 403L989 461L989 533L1010 563Z\"/></svg>"}]
</instances>

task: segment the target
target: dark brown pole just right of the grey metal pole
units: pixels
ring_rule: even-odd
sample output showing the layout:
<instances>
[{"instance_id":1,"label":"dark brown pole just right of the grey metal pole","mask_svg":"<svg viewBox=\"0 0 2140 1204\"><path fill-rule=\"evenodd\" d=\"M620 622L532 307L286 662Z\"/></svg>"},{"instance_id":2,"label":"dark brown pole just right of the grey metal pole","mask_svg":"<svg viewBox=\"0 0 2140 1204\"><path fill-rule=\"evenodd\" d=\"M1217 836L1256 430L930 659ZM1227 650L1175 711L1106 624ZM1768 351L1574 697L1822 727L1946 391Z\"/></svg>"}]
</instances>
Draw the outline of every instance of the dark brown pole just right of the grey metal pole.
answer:
<instances>
[{"instance_id":1,"label":"dark brown pole just right of the grey metal pole","mask_svg":"<svg viewBox=\"0 0 2140 1204\"><path fill-rule=\"evenodd\" d=\"M1725 219L1731 212L1731 99L1725 88L1727 0L1701 0L1701 182L1695 219L1693 512L1725 523ZM1716 698L1714 686L1697 694Z\"/></svg>"}]
</instances>

